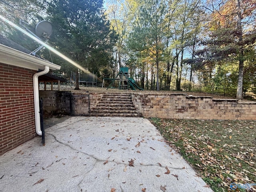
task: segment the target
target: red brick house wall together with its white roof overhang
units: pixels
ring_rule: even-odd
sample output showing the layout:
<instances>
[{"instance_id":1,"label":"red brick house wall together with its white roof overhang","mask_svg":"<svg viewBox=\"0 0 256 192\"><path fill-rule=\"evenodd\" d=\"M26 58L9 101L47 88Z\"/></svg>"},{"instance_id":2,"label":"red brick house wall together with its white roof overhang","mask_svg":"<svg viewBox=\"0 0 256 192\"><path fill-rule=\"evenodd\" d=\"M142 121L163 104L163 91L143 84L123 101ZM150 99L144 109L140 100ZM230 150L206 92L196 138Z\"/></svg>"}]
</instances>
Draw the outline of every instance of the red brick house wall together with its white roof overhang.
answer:
<instances>
[{"instance_id":1,"label":"red brick house wall together with its white roof overhang","mask_svg":"<svg viewBox=\"0 0 256 192\"><path fill-rule=\"evenodd\" d=\"M0 154L37 135L33 76L45 68L60 66L0 44Z\"/></svg>"}]
</instances>

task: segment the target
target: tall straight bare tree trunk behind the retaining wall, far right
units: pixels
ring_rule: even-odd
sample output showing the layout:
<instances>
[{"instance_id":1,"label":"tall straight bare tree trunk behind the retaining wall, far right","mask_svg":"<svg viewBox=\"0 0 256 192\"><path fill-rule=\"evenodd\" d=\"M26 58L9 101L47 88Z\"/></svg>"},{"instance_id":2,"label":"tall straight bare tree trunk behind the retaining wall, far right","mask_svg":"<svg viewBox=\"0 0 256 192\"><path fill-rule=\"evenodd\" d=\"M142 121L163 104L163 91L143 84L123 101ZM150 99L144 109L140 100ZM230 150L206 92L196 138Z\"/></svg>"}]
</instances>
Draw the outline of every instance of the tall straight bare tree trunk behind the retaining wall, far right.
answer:
<instances>
[{"instance_id":1,"label":"tall straight bare tree trunk behind the retaining wall, far right","mask_svg":"<svg viewBox=\"0 0 256 192\"><path fill-rule=\"evenodd\" d=\"M237 30L238 30L238 44L239 49L239 72L238 72L238 84L236 90L236 99L241 100L243 98L243 77L244 77L244 49L242 47L242 16L240 11L240 0L237 0Z\"/></svg>"}]
</instances>

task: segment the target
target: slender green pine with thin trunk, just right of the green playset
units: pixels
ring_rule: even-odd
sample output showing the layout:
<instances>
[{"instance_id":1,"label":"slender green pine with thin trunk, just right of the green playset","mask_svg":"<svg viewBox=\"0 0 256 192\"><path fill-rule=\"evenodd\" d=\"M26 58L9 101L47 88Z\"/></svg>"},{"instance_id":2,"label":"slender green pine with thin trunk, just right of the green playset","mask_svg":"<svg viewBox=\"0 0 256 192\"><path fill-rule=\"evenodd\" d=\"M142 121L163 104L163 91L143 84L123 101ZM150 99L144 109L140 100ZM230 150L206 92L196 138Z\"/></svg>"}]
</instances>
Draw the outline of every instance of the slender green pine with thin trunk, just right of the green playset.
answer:
<instances>
[{"instance_id":1,"label":"slender green pine with thin trunk, just right of the green playset","mask_svg":"<svg viewBox=\"0 0 256 192\"><path fill-rule=\"evenodd\" d=\"M157 91L159 91L159 63L163 60L164 52L165 14L164 0L145 0L140 6L138 19L133 22L134 27L129 38L129 46L132 50L154 60Z\"/></svg>"}]
</instances>

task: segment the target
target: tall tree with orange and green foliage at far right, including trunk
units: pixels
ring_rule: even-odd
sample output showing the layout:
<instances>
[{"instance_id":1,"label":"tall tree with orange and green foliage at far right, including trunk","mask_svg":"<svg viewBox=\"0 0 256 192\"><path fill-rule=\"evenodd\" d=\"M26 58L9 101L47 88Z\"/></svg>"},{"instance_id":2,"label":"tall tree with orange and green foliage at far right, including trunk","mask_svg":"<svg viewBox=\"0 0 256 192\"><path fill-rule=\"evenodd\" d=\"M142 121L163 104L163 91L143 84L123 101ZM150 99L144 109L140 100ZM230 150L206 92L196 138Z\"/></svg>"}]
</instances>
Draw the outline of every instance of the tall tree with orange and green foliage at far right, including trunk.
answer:
<instances>
[{"instance_id":1,"label":"tall tree with orange and green foliage at far right, including trunk","mask_svg":"<svg viewBox=\"0 0 256 192\"><path fill-rule=\"evenodd\" d=\"M243 98L244 61L247 50L256 40L256 0L212 0L211 38L208 57L212 60L234 60L238 63L236 98ZM212 46L213 45L213 46Z\"/></svg>"}]
</instances>

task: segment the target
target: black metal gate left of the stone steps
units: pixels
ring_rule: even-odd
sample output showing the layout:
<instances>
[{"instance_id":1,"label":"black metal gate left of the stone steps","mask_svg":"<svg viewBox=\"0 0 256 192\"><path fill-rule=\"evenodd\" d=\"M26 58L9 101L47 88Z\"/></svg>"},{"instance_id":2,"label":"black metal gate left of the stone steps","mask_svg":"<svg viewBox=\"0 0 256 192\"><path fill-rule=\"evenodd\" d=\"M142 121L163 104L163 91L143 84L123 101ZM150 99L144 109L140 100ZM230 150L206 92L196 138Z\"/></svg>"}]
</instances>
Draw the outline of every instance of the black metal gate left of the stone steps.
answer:
<instances>
[{"instance_id":1,"label":"black metal gate left of the stone steps","mask_svg":"<svg viewBox=\"0 0 256 192\"><path fill-rule=\"evenodd\" d=\"M71 115L90 115L90 95L72 95L71 96Z\"/></svg>"}]
</instances>

